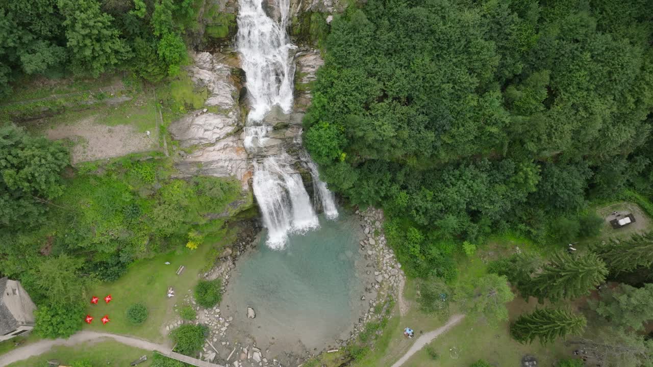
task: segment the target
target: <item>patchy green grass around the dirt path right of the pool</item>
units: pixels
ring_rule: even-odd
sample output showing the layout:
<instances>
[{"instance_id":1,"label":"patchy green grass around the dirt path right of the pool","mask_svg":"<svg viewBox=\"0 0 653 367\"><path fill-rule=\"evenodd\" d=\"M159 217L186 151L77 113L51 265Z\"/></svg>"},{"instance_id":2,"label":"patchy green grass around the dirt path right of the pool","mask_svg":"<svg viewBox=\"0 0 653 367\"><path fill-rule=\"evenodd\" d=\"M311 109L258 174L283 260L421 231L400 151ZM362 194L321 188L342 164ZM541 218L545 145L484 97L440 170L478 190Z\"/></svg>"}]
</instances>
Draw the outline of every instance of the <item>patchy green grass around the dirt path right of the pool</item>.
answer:
<instances>
[{"instance_id":1,"label":"patchy green grass around the dirt path right of the pool","mask_svg":"<svg viewBox=\"0 0 653 367\"><path fill-rule=\"evenodd\" d=\"M546 253L551 250L548 247L539 248L532 242L511 234L496 236L486 245L481 246L476 255L469 258L464 255L458 257L460 274L456 279L456 285L485 275L487 261L513 253L516 246L526 253ZM415 339L404 337L404 328L413 328L416 336L419 337L422 332L434 330L445 323L448 317L425 315L419 311L416 288L417 281L407 279L404 298L409 302L410 310L404 317L400 317L398 308L395 307L393 317L383 334L375 342L374 349L364 359L355 362L353 366L390 366L404 355L415 341ZM534 300L526 303L522 298L516 298L508 304L510 317L516 319L522 312L533 310L535 306ZM453 304L450 315L458 311L458 306ZM416 353L406 363L406 366L466 367L475 360L486 359L495 366L510 367L518 366L520 359L528 354L534 355L542 366L551 366L552 362L565 355L564 345L560 342L547 347L543 347L537 342L532 345L515 342L509 335L508 325L507 322L488 325L485 321L479 321L475 317L466 317L460 325L456 325L431 343L440 355L437 362L431 359L424 348ZM449 351L449 349L452 350Z\"/></svg>"}]
</instances>

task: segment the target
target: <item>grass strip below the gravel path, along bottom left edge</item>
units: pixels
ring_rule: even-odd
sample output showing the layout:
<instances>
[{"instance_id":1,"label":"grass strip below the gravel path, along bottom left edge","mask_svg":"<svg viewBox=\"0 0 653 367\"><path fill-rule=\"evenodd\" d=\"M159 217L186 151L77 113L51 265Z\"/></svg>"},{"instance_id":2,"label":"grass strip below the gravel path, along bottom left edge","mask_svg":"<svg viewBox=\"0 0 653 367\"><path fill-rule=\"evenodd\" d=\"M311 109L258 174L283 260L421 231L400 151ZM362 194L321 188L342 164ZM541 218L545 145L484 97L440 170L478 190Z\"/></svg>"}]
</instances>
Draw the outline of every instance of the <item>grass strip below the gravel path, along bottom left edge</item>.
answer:
<instances>
[{"instance_id":1,"label":"grass strip below the gravel path, along bottom left edge","mask_svg":"<svg viewBox=\"0 0 653 367\"><path fill-rule=\"evenodd\" d=\"M147 355L148 360L138 364L138 367L148 367L151 364L152 351L129 347L127 345L102 340L97 343L84 343L74 347L53 347L48 353L43 353L37 357L20 360L9 364L8 367L47 367L48 360L56 359L63 365L67 365L76 360L86 359L93 366L129 366L130 362L139 359L142 355Z\"/></svg>"}]
</instances>

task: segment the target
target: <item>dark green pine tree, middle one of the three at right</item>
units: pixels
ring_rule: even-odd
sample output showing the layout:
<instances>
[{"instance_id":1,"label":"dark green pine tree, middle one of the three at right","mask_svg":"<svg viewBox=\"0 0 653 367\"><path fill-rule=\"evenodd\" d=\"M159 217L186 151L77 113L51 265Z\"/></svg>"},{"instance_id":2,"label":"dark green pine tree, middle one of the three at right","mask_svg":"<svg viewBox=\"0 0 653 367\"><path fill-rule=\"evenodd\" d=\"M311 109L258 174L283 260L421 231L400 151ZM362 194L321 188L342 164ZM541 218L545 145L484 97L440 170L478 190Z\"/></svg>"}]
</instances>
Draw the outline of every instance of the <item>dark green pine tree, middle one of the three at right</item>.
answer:
<instances>
[{"instance_id":1,"label":"dark green pine tree, middle one of the three at right","mask_svg":"<svg viewBox=\"0 0 653 367\"><path fill-rule=\"evenodd\" d=\"M552 302L577 298L590 293L603 283L608 270L605 263L595 253L572 256L558 251L554 253L543 272L533 278L527 289L540 303L544 298Z\"/></svg>"}]
</instances>

